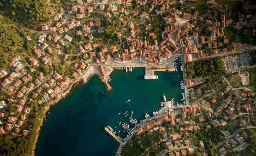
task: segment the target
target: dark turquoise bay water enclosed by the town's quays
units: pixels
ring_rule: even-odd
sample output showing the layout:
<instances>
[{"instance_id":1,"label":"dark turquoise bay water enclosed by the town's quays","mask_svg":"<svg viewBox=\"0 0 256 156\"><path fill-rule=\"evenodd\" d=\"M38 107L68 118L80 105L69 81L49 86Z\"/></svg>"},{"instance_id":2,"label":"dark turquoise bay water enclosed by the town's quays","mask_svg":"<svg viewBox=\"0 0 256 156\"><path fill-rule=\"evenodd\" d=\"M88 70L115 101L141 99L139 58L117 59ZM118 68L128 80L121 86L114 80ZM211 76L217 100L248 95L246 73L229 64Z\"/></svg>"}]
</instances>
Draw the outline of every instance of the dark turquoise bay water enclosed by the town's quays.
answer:
<instances>
[{"instance_id":1,"label":"dark turquoise bay water enclosed by the town's quays","mask_svg":"<svg viewBox=\"0 0 256 156\"><path fill-rule=\"evenodd\" d=\"M182 98L181 71L155 72L158 80L144 80L144 74L142 67L128 73L114 70L110 75L112 81L109 83L113 87L110 92L97 76L75 87L47 114L36 156L113 156L119 144L103 127L110 125L117 135L121 130L120 136L125 137L119 121L128 123L131 111L132 117L139 121L145 118L145 113L152 116L152 111L160 109L163 93L167 100L174 98L175 103ZM131 101L125 103L128 99Z\"/></svg>"}]
</instances>

